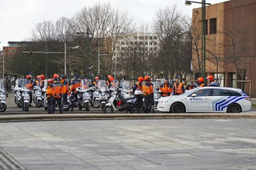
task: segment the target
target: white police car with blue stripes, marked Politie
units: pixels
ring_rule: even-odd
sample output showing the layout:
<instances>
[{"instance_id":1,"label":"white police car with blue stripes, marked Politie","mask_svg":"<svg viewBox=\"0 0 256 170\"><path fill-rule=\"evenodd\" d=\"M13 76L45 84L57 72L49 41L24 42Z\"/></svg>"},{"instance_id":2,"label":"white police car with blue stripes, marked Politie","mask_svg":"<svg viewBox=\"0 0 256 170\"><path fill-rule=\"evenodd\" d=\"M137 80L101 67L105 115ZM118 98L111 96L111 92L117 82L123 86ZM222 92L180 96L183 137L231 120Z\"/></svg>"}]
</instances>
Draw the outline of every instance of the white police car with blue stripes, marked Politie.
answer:
<instances>
[{"instance_id":1,"label":"white police car with blue stripes, marked Politie","mask_svg":"<svg viewBox=\"0 0 256 170\"><path fill-rule=\"evenodd\" d=\"M241 89L228 87L197 87L182 95L158 99L160 112L228 112L240 113L251 110L251 98Z\"/></svg>"}]
</instances>

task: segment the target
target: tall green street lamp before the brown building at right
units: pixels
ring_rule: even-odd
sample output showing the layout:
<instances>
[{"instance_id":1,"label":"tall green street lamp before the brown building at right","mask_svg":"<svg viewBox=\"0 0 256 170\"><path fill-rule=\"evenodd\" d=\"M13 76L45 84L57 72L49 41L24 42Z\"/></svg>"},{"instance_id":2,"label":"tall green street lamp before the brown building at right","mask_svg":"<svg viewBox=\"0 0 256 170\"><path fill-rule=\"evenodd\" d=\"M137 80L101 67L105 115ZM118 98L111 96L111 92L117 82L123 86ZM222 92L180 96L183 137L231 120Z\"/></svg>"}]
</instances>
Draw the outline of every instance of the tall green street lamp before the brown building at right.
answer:
<instances>
[{"instance_id":1,"label":"tall green street lamp before the brown building at right","mask_svg":"<svg viewBox=\"0 0 256 170\"><path fill-rule=\"evenodd\" d=\"M201 77L205 79L205 45L206 45L206 21L205 21L205 5L211 5L211 3L206 3L205 0L202 0L201 2L197 1L185 1L185 5L191 5L191 3L201 3L202 5L202 41L201 41L201 54L202 54L202 60L201 60Z\"/></svg>"}]
</instances>

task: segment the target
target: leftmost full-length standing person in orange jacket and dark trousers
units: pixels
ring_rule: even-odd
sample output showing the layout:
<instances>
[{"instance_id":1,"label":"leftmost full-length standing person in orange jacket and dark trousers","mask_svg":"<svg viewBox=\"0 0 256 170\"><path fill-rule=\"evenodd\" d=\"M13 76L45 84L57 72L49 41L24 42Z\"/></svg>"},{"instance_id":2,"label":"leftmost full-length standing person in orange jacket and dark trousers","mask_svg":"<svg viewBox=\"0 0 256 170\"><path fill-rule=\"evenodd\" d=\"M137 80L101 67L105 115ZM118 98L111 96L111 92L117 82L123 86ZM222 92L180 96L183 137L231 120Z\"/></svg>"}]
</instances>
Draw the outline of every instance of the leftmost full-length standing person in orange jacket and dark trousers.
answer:
<instances>
[{"instance_id":1,"label":"leftmost full-length standing person in orange jacket and dark trousers","mask_svg":"<svg viewBox=\"0 0 256 170\"><path fill-rule=\"evenodd\" d=\"M52 88L51 88L51 110L50 110L50 114L54 114L54 112L55 112L55 103L56 103L56 101L57 101L57 104L59 106L59 113L60 114L63 113L62 105L61 105L61 91L62 91L61 83L59 83L57 78L53 79L53 85L52 85Z\"/></svg>"}]
</instances>

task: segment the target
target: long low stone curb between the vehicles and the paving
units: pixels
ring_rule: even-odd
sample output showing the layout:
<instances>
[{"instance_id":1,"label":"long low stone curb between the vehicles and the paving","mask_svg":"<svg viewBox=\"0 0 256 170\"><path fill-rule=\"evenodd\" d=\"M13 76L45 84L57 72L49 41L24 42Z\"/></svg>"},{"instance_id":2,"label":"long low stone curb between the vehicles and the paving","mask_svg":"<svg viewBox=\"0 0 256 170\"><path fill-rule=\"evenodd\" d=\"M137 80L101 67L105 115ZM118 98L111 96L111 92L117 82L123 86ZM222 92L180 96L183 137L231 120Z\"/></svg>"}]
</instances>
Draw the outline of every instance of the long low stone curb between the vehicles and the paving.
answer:
<instances>
[{"instance_id":1,"label":"long low stone curb between the vehicles and the paving","mask_svg":"<svg viewBox=\"0 0 256 170\"><path fill-rule=\"evenodd\" d=\"M0 122L59 120L133 120L133 119L255 119L256 114L15 114L0 115Z\"/></svg>"}]
</instances>

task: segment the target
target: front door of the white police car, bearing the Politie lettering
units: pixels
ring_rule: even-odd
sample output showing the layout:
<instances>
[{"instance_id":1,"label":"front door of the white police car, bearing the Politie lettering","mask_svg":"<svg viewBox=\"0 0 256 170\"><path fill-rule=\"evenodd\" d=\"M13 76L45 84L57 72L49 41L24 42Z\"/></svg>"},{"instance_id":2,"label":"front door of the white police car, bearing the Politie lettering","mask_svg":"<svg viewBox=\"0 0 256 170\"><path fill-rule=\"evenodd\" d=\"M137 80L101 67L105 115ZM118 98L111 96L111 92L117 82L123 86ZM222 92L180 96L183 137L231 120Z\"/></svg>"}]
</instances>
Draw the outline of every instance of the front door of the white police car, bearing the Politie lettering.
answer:
<instances>
[{"instance_id":1,"label":"front door of the white police car, bearing the Politie lettering","mask_svg":"<svg viewBox=\"0 0 256 170\"><path fill-rule=\"evenodd\" d=\"M187 112L209 112L211 89L199 89L187 97Z\"/></svg>"}]
</instances>

